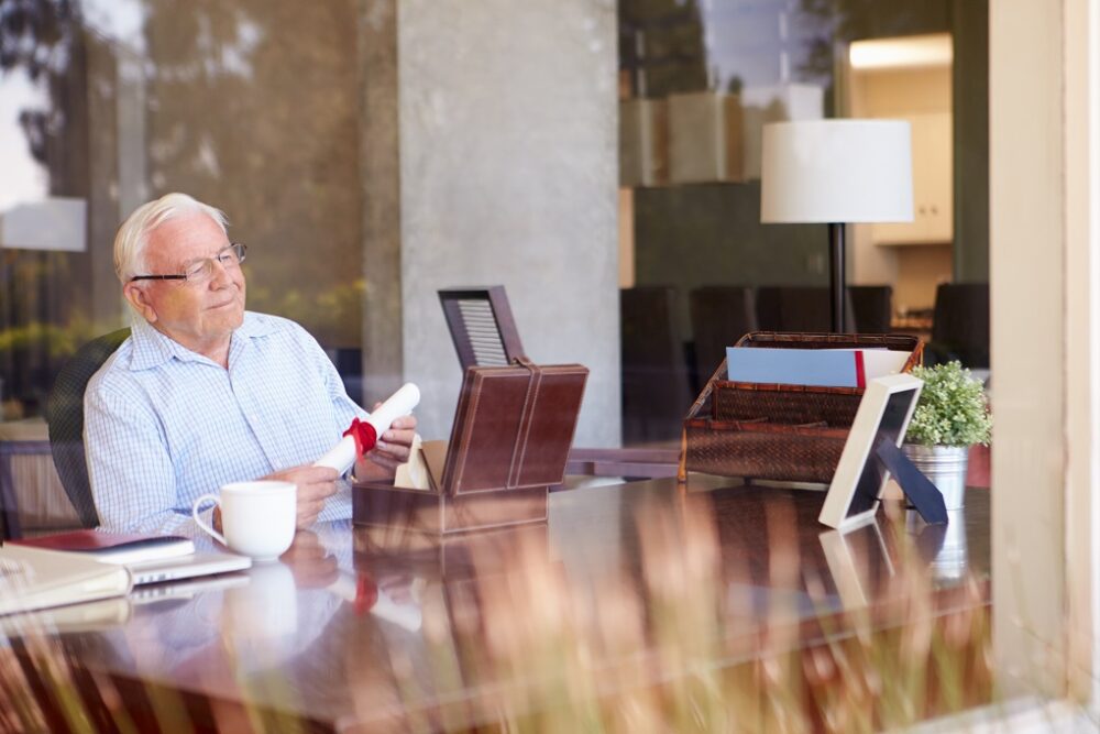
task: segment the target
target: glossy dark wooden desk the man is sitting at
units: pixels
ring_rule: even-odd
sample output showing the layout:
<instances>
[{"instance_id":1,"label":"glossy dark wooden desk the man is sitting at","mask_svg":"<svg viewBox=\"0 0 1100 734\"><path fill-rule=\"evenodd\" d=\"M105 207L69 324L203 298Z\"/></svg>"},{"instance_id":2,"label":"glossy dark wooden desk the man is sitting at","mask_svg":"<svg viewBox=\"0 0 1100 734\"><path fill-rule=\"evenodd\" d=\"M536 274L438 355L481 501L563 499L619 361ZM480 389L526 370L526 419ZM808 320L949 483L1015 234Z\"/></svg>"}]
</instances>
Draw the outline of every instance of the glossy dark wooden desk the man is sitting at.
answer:
<instances>
[{"instance_id":1,"label":"glossy dark wooden desk the man is sitting at","mask_svg":"<svg viewBox=\"0 0 1100 734\"><path fill-rule=\"evenodd\" d=\"M140 731L763 731L776 706L817 726L838 695L894 721L901 679L931 687L920 715L989 700L987 492L948 528L880 512L840 536L821 493L727 484L560 491L548 525L443 545L327 525L193 594L105 603L45 647L88 715ZM56 702L40 647L13 642L26 690Z\"/></svg>"}]
</instances>

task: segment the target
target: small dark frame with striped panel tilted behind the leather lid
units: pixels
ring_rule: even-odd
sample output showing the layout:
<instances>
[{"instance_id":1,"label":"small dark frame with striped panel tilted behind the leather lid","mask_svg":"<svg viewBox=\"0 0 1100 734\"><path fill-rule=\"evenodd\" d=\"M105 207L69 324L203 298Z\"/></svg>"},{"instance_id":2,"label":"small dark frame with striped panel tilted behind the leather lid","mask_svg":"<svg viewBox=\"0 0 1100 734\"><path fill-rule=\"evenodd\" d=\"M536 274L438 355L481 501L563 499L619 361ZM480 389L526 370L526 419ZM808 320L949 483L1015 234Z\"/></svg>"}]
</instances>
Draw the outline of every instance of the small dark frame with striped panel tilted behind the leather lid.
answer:
<instances>
[{"instance_id":1,"label":"small dark frame with striped panel tilted behind the leather lid","mask_svg":"<svg viewBox=\"0 0 1100 734\"><path fill-rule=\"evenodd\" d=\"M447 327L465 372L470 366L502 366L524 354L503 285L439 292Z\"/></svg>"}]
</instances>

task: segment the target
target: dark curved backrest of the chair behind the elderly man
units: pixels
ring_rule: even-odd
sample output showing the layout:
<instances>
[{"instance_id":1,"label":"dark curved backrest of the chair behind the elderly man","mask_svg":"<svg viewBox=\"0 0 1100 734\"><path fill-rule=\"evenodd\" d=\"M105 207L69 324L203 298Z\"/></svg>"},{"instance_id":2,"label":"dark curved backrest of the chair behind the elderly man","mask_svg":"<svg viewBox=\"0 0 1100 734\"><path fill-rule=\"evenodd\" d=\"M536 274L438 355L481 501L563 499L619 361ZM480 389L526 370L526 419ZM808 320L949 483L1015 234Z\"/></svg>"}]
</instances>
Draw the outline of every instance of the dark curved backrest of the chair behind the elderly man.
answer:
<instances>
[{"instance_id":1,"label":"dark curved backrest of the chair behind the elderly man","mask_svg":"<svg viewBox=\"0 0 1100 734\"><path fill-rule=\"evenodd\" d=\"M99 371L119 346L130 337L130 329L119 329L92 339L77 350L57 373L46 399L46 423L50 425L50 450L65 493L85 527L99 525L96 503L91 499L88 463L84 453L84 391L91 375Z\"/></svg>"}]
</instances>

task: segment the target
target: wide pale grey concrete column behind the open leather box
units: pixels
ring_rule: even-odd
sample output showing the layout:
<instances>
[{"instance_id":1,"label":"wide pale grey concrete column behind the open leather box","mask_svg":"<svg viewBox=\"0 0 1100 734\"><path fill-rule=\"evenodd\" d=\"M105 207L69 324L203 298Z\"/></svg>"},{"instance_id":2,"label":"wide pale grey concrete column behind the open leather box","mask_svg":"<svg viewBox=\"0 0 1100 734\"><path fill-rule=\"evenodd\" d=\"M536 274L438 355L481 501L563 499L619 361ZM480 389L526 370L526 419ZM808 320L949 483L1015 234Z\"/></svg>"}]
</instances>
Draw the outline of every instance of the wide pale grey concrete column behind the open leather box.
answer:
<instances>
[{"instance_id":1,"label":"wide pale grey concrete column behind the open leather box","mask_svg":"<svg viewBox=\"0 0 1100 734\"><path fill-rule=\"evenodd\" d=\"M436 291L504 284L532 360L592 371L576 443L617 443L615 2L396 7L403 362L421 434L448 435L462 380Z\"/></svg>"}]
</instances>

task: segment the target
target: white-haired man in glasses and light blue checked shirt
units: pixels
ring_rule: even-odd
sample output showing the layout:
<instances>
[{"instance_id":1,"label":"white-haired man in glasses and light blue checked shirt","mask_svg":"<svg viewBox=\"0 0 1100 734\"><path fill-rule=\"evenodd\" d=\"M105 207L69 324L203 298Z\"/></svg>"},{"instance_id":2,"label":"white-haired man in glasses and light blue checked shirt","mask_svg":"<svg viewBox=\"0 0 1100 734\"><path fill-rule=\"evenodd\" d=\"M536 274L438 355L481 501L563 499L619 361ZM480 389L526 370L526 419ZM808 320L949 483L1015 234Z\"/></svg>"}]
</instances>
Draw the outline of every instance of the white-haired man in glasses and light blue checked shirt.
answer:
<instances>
[{"instance_id":1,"label":"white-haired man in glasses and light blue checked shirt","mask_svg":"<svg viewBox=\"0 0 1100 734\"><path fill-rule=\"evenodd\" d=\"M332 469L311 463L366 413L297 324L244 310L245 248L224 215L184 194L138 208L114 240L133 331L88 383L85 447L103 527L197 530L191 503L227 482L298 486L298 526L351 516ZM361 459L393 475L416 428L400 418Z\"/></svg>"}]
</instances>

